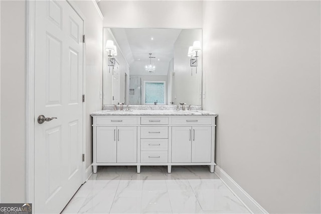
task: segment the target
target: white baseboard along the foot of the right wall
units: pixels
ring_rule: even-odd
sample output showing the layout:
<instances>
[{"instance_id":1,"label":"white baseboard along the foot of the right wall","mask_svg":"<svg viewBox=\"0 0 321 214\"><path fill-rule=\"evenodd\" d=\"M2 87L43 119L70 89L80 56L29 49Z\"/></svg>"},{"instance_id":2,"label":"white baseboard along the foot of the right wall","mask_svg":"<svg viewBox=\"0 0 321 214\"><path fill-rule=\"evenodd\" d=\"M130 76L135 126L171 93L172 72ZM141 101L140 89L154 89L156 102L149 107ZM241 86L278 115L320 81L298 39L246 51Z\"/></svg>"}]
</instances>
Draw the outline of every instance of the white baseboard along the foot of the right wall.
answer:
<instances>
[{"instance_id":1,"label":"white baseboard along the foot of the right wall","mask_svg":"<svg viewBox=\"0 0 321 214\"><path fill-rule=\"evenodd\" d=\"M258 202L256 202L240 185L238 185L223 169L215 166L215 174L226 184L226 186L243 202L252 213L268 213Z\"/></svg>"}]
</instances>

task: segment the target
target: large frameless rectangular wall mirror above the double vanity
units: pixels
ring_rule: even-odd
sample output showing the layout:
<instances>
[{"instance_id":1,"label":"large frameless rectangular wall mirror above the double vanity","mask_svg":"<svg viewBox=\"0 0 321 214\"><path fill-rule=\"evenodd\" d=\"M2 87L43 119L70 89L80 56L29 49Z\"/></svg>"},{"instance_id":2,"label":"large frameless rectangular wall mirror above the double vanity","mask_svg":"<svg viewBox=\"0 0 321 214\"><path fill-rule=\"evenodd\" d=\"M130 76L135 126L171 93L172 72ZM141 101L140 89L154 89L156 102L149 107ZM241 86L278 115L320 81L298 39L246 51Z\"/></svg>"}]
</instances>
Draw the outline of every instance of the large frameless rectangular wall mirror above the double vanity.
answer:
<instances>
[{"instance_id":1,"label":"large frameless rectangular wall mirror above the double vanity","mask_svg":"<svg viewBox=\"0 0 321 214\"><path fill-rule=\"evenodd\" d=\"M201 29L104 28L103 105L202 105L202 53L189 50L195 41L201 49Z\"/></svg>"}]
</instances>

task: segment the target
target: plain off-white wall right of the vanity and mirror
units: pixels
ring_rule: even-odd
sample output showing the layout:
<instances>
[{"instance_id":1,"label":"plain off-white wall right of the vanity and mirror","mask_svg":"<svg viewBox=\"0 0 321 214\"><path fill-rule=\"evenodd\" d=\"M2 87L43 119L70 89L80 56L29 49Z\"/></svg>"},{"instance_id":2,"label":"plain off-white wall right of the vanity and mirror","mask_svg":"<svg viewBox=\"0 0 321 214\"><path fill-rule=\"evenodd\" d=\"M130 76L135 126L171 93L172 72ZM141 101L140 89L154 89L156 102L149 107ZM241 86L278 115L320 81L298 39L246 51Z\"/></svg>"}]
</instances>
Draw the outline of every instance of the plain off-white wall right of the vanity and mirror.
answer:
<instances>
[{"instance_id":1,"label":"plain off-white wall right of the vanity and mirror","mask_svg":"<svg viewBox=\"0 0 321 214\"><path fill-rule=\"evenodd\" d=\"M204 2L216 162L270 213L320 213L320 2Z\"/></svg>"}]
</instances>

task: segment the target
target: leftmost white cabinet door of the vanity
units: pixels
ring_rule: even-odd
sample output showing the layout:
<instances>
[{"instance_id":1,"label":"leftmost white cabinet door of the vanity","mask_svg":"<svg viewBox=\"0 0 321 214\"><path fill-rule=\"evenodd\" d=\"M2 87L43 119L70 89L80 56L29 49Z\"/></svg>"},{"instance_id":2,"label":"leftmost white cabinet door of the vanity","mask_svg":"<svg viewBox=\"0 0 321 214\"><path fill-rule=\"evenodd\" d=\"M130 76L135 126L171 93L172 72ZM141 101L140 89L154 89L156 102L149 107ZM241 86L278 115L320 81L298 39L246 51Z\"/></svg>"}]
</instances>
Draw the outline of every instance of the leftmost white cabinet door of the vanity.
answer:
<instances>
[{"instance_id":1,"label":"leftmost white cabinet door of the vanity","mask_svg":"<svg viewBox=\"0 0 321 214\"><path fill-rule=\"evenodd\" d=\"M97 163L116 163L116 127L97 127Z\"/></svg>"}]
</instances>

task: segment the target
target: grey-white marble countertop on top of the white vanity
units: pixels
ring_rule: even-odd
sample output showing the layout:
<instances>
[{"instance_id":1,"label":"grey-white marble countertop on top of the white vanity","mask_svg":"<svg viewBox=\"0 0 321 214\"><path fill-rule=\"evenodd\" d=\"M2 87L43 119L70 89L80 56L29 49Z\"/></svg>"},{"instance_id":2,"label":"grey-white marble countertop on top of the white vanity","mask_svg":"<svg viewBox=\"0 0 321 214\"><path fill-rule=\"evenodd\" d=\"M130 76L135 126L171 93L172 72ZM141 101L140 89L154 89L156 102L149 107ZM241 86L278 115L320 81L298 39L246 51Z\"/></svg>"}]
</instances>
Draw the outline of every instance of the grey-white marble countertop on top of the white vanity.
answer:
<instances>
[{"instance_id":1,"label":"grey-white marble countertop on top of the white vanity","mask_svg":"<svg viewBox=\"0 0 321 214\"><path fill-rule=\"evenodd\" d=\"M203 111L176 111L176 110L100 110L93 112L90 116L218 116L218 114Z\"/></svg>"}]
</instances>

